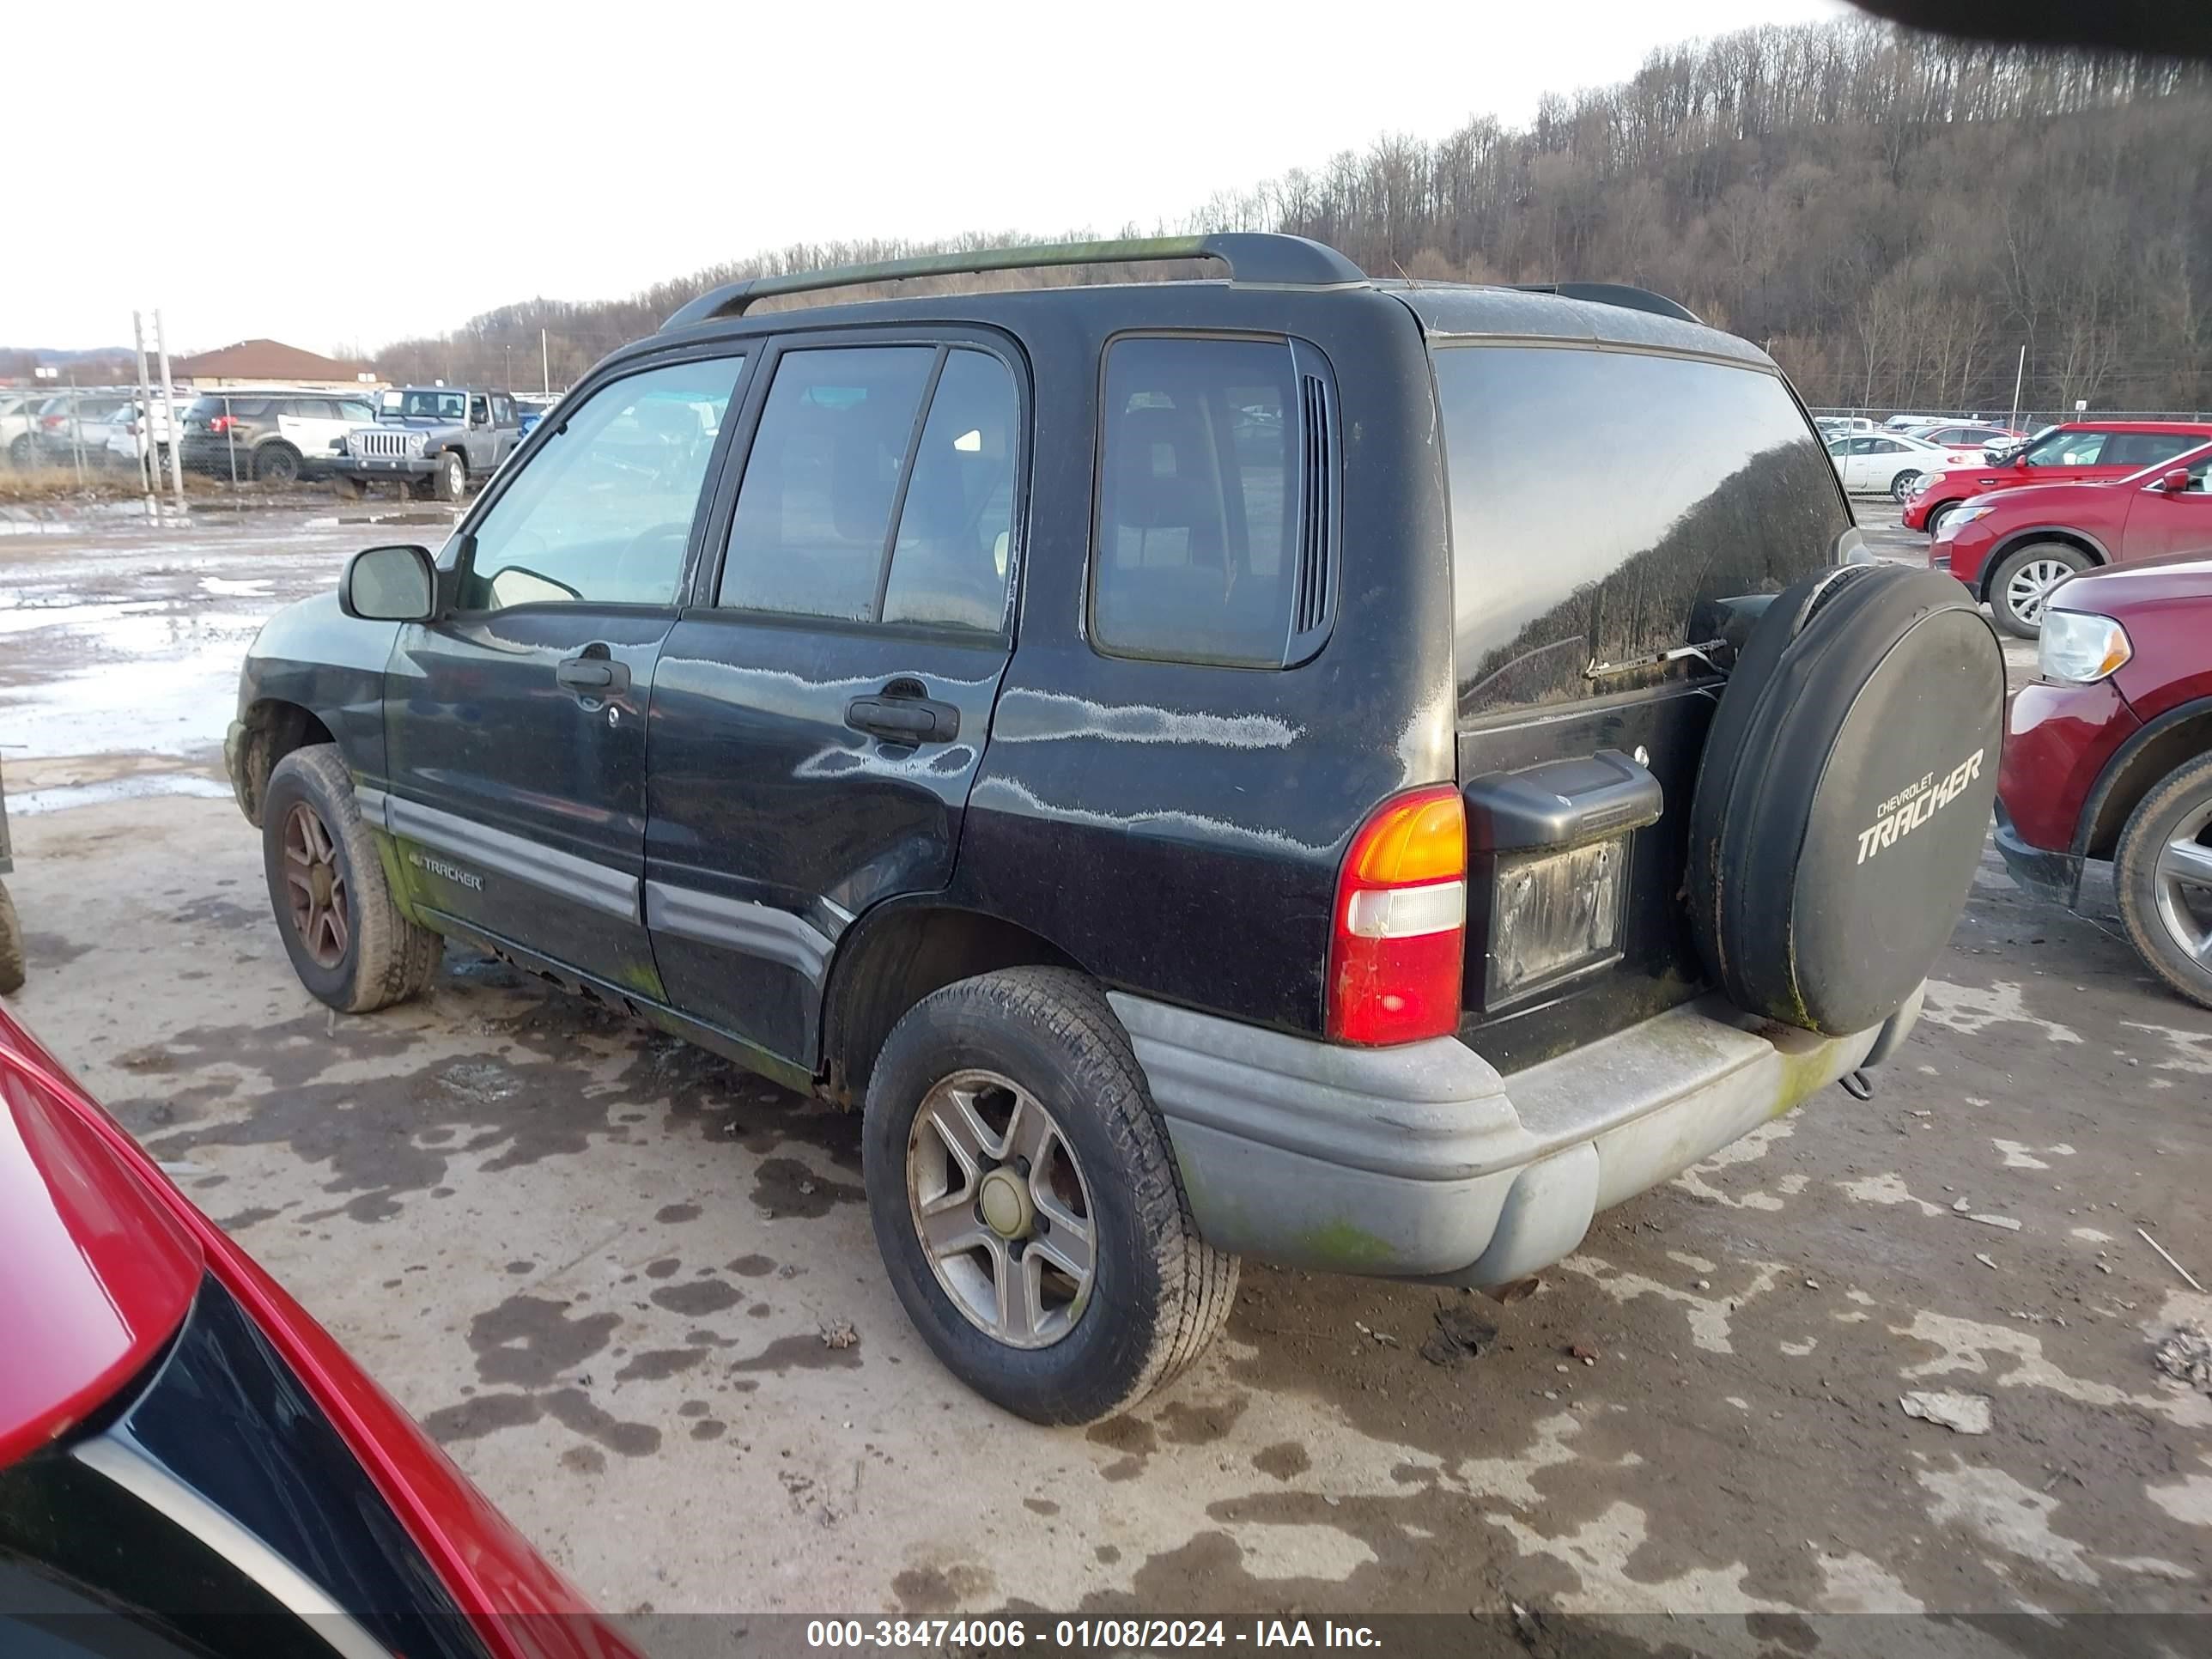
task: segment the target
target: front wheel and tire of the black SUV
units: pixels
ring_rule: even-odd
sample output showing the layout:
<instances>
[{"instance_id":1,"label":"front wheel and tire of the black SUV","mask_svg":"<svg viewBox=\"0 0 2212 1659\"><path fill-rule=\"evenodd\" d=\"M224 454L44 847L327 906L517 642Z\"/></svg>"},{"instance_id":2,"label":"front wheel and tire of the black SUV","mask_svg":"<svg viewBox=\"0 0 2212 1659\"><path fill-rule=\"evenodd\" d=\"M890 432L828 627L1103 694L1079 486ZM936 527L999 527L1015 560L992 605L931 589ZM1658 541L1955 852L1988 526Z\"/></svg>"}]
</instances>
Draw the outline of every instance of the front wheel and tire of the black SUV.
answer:
<instances>
[{"instance_id":1,"label":"front wheel and tire of the black SUV","mask_svg":"<svg viewBox=\"0 0 2212 1659\"><path fill-rule=\"evenodd\" d=\"M407 920L336 743L285 754L261 796L261 867L292 971L338 1013L425 991L445 942Z\"/></svg>"}]
</instances>

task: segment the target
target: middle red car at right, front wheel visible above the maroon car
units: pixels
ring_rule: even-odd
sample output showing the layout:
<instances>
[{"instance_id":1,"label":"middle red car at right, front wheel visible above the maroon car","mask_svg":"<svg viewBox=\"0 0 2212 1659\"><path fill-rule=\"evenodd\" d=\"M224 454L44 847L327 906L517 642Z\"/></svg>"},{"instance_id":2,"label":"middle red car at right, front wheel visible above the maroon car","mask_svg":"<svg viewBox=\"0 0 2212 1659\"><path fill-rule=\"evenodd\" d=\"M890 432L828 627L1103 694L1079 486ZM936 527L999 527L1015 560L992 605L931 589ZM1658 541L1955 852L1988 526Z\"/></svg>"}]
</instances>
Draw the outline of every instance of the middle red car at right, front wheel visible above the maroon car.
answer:
<instances>
[{"instance_id":1,"label":"middle red car at right, front wheel visible above the maroon car","mask_svg":"<svg viewBox=\"0 0 2212 1659\"><path fill-rule=\"evenodd\" d=\"M2212 553L2212 445L2099 484L2028 484L1978 495L1929 542L1929 566L1989 602L1997 626L2033 639L2053 588L2099 564Z\"/></svg>"}]
</instances>

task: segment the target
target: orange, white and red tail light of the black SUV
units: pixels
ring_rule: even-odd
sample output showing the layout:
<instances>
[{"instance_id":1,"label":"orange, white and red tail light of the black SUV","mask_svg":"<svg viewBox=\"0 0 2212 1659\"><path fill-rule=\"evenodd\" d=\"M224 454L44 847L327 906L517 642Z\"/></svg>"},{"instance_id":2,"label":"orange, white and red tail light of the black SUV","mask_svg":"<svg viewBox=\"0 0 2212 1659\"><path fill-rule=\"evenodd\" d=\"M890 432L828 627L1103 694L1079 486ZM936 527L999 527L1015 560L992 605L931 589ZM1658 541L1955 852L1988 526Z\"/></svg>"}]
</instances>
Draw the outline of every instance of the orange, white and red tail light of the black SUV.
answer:
<instances>
[{"instance_id":1,"label":"orange, white and red tail light of the black SUV","mask_svg":"<svg viewBox=\"0 0 2212 1659\"><path fill-rule=\"evenodd\" d=\"M1345 854L1329 940L1334 1042L1413 1042L1460 1026L1467 810L1451 785L1385 801Z\"/></svg>"}]
</instances>

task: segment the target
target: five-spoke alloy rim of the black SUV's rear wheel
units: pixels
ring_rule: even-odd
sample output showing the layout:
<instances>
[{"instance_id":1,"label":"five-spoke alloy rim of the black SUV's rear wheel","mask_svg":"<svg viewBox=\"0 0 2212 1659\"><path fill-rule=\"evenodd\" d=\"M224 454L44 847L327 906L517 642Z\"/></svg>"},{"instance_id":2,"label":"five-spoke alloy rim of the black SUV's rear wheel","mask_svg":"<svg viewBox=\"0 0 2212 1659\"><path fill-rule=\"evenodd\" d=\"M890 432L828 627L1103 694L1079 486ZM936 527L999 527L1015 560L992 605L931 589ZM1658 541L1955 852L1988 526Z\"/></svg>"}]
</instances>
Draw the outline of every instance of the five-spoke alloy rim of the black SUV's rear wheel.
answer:
<instances>
[{"instance_id":1,"label":"five-spoke alloy rim of the black SUV's rear wheel","mask_svg":"<svg viewBox=\"0 0 2212 1659\"><path fill-rule=\"evenodd\" d=\"M956 1071L914 1113L907 1206L938 1285L1006 1347L1051 1347L1091 1303L1097 1223L1075 1148L993 1071Z\"/></svg>"}]
</instances>

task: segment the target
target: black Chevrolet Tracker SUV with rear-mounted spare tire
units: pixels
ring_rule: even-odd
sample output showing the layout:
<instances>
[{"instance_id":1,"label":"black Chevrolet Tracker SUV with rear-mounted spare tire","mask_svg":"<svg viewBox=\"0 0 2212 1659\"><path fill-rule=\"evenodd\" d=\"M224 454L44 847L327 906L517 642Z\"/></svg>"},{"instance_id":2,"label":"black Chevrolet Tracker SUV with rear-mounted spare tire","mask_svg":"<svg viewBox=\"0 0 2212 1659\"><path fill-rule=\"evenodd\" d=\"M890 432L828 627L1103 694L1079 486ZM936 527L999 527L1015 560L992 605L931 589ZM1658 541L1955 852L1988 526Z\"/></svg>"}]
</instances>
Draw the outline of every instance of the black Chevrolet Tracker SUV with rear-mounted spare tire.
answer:
<instances>
[{"instance_id":1,"label":"black Chevrolet Tracker SUV with rear-mounted spare tire","mask_svg":"<svg viewBox=\"0 0 2212 1659\"><path fill-rule=\"evenodd\" d=\"M1099 259L1230 274L748 316ZM228 761L314 995L458 940L863 1106L916 1325L1082 1422L1239 1254L1511 1283L1860 1091L2002 686L1759 349L1217 234L706 294L276 615Z\"/></svg>"}]
</instances>

